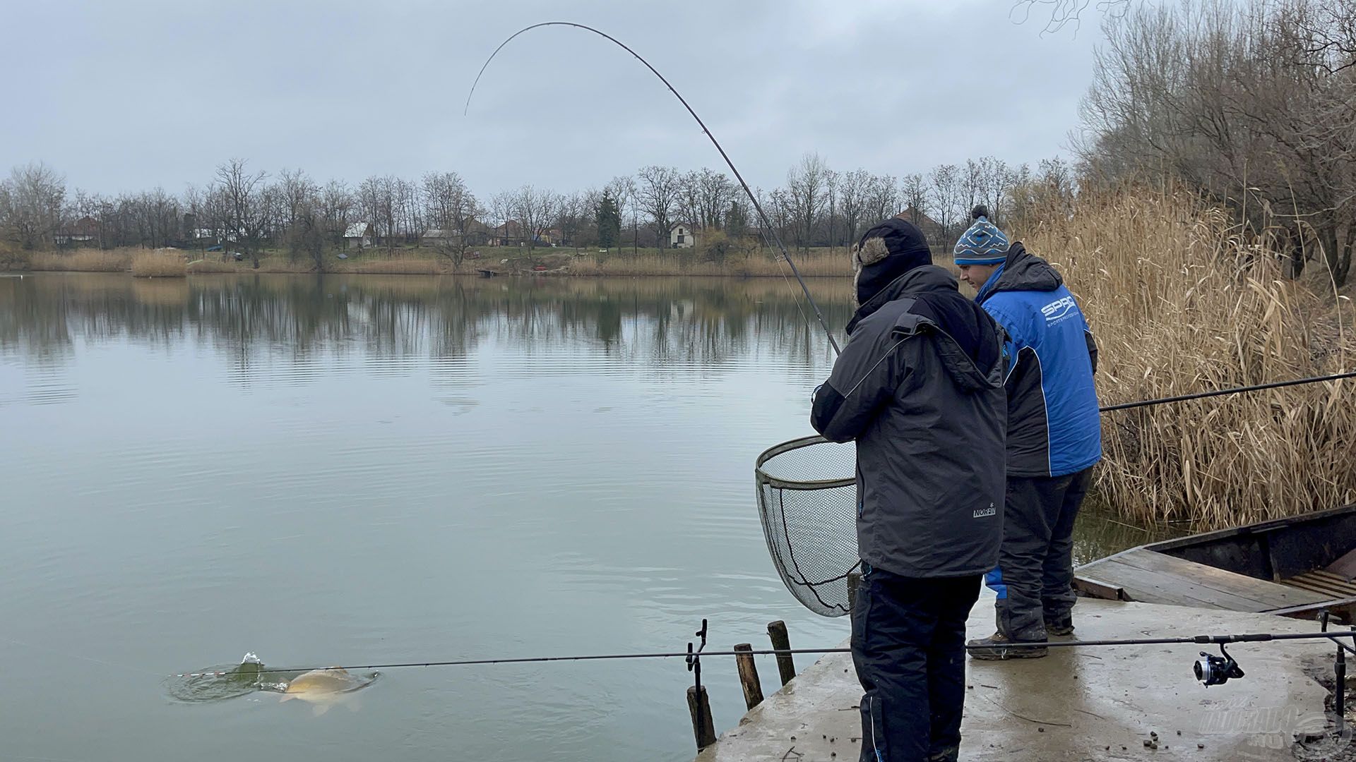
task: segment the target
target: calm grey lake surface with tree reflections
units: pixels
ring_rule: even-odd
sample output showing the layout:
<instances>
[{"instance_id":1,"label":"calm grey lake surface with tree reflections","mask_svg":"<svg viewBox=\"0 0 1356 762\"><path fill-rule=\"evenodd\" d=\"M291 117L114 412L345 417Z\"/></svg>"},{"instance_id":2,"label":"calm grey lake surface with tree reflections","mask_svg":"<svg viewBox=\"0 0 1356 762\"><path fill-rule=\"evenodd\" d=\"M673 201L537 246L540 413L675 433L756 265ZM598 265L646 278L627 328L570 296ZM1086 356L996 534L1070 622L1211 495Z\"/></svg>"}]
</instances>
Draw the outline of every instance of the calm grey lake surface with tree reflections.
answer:
<instances>
[{"instance_id":1,"label":"calm grey lake surface with tree reflections","mask_svg":"<svg viewBox=\"0 0 1356 762\"><path fill-rule=\"evenodd\" d=\"M164 678L682 651L702 617L835 645L753 481L830 365L780 279L0 277L0 758L690 759L678 659L388 670L320 717ZM1088 517L1078 553L1144 540Z\"/></svg>"}]
</instances>

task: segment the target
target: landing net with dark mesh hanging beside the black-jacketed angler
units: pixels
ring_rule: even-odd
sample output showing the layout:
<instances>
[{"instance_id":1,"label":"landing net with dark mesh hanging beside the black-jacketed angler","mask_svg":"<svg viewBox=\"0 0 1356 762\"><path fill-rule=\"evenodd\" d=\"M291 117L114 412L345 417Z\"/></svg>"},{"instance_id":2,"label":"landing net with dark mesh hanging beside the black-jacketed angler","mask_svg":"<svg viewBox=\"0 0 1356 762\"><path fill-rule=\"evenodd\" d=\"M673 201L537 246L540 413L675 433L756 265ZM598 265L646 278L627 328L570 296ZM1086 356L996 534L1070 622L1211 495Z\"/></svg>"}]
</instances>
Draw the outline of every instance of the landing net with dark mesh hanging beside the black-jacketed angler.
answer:
<instances>
[{"instance_id":1,"label":"landing net with dark mesh hanging beside the black-jacketed angler","mask_svg":"<svg viewBox=\"0 0 1356 762\"><path fill-rule=\"evenodd\" d=\"M857 559L857 449L822 437L758 456L758 513L786 590L824 617L848 613Z\"/></svg>"}]
</instances>

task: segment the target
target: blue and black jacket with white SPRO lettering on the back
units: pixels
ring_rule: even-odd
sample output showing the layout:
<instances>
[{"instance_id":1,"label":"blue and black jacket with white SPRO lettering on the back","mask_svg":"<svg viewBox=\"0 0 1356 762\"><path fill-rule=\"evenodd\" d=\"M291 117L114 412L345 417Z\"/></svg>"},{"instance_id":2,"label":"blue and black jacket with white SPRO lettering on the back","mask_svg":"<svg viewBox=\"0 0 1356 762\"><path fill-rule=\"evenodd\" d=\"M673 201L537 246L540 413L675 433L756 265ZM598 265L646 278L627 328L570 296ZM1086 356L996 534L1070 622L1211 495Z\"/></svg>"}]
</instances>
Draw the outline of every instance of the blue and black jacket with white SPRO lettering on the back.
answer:
<instances>
[{"instance_id":1,"label":"blue and black jacket with white SPRO lettering on the back","mask_svg":"<svg viewBox=\"0 0 1356 762\"><path fill-rule=\"evenodd\" d=\"M1097 343L1059 273L1013 243L975 301L1008 332L1008 476L1067 476L1100 461Z\"/></svg>"}]
</instances>

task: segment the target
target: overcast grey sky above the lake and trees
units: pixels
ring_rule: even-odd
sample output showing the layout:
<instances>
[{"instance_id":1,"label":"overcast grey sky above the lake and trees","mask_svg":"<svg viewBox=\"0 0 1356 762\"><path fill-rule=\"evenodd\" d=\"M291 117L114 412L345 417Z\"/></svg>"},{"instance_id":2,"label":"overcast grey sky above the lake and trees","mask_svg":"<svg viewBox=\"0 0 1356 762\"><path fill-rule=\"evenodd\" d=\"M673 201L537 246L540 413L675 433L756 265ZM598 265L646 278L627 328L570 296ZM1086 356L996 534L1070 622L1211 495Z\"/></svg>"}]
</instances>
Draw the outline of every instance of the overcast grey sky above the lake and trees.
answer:
<instances>
[{"instance_id":1,"label":"overcast grey sky above the lake and trees","mask_svg":"<svg viewBox=\"0 0 1356 762\"><path fill-rule=\"evenodd\" d=\"M206 184L217 164L357 183L454 169L483 195L599 186L645 164L719 167L683 92L750 183L805 152L907 174L1035 163L1077 125L1102 39L1044 34L1012 0L119 0L0 11L0 172L33 160L99 193ZM1039 14L1039 11L1037 11Z\"/></svg>"}]
</instances>

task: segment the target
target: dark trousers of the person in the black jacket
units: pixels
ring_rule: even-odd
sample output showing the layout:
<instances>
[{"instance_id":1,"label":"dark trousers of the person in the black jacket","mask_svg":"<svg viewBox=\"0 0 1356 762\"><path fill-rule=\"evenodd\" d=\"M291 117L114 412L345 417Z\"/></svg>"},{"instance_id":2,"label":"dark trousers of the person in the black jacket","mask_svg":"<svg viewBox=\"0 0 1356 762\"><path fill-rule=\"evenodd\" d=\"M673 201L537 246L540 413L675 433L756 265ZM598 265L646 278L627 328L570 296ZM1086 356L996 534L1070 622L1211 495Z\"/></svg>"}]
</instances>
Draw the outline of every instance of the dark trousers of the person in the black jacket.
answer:
<instances>
[{"instance_id":1,"label":"dark trousers of the person in the black jacket","mask_svg":"<svg viewBox=\"0 0 1356 762\"><path fill-rule=\"evenodd\" d=\"M852 611L861 762L953 761L965 704L965 618L980 575L907 578L869 569Z\"/></svg>"}]
</instances>

